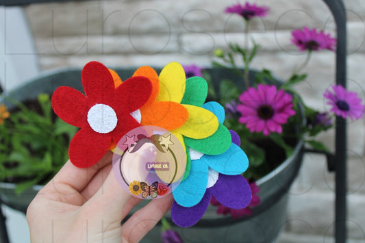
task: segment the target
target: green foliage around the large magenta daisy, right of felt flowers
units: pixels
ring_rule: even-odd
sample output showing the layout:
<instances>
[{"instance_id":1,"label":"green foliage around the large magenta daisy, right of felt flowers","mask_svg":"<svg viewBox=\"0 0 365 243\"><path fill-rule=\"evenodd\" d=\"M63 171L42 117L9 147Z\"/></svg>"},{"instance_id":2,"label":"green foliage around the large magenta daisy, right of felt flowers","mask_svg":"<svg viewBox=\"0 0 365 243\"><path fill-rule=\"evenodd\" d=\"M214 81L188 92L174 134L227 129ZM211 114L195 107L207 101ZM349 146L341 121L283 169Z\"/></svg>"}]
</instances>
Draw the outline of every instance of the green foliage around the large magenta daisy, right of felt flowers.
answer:
<instances>
[{"instance_id":1,"label":"green foliage around the large magenta daisy, right of felt flowers","mask_svg":"<svg viewBox=\"0 0 365 243\"><path fill-rule=\"evenodd\" d=\"M275 158L270 157L271 155L267 151L268 146L270 146L268 144L276 144L277 148L281 150L281 152L278 151L278 153L284 156L281 158L281 162L292 155L294 145L299 140L304 140L307 145L312 146L312 148L318 151L329 153L329 149L327 149L325 144L314 139L306 140L306 138L314 138L318 133L330 129L332 125L317 124L316 118L319 112L305 105L301 94L295 90L294 86L305 81L307 78L306 74L294 72L286 81L278 81L271 71L263 68L262 71L253 72L255 74L254 79L252 75L248 75L249 66L255 55L257 55L257 51L260 49L260 45L256 44L254 40L251 40L251 42L253 44L251 50L242 48L239 44L232 43L229 43L228 51L219 49L215 55L218 60L213 62L213 66L227 68L232 73L238 75L242 79L240 81L242 81L244 86L248 84L253 87L257 87L258 84L277 86L278 89L282 89L292 95L293 109L296 111L296 114L291 116L288 122L282 126L282 133L270 133L267 137L262 133L251 133L244 124L239 123L238 118L241 116L239 112L234 112L233 114L232 112L227 113L225 126L238 133L241 139L241 147L249 157L250 166L243 175L248 179L255 180L260 179L260 177L266 175L278 165L275 164L276 162L273 165L268 161L275 160ZM238 60L241 60L243 67L238 64ZM210 82L209 85L212 86L210 77L208 79L208 84ZM222 105L231 103L232 101L239 103L238 97L244 90L240 90L236 84L238 83L234 83L229 79L221 79L218 86L218 94L214 92L214 94L210 94L210 97ZM273 152L271 151L270 153Z\"/></svg>"}]
</instances>

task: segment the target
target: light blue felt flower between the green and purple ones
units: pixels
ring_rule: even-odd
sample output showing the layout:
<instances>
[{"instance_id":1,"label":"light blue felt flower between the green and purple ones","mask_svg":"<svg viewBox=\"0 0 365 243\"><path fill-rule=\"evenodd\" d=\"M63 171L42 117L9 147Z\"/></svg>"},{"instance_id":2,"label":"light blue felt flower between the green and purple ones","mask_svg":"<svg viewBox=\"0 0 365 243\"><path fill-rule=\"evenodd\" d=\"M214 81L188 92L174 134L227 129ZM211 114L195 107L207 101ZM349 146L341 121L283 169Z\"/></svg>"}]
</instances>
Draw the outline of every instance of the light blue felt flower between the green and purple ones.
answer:
<instances>
[{"instance_id":1,"label":"light blue felt flower between the green and purple ones","mask_svg":"<svg viewBox=\"0 0 365 243\"><path fill-rule=\"evenodd\" d=\"M216 102L209 102L205 103L203 108L213 112L217 116L221 127L224 127L222 124L225 120L225 112L221 105ZM210 179L210 173L215 172L217 176L218 173L223 175L240 175L247 170L249 166L247 155L238 145L231 142L231 136L228 130L227 133L225 134L225 129L223 129L222 133L214 136L214 139L205 138L200 141L201 144L193 143L193 145L197 146L189 149L191 159L190 173L173 191L174 199L179 205L192 207L201 201ZM226 142L223 142L225 136L229 139L229 146L221 153L207 155L194 150L194 148L200 149L199 145L206 146L207 148L217 146L218 144L226 146Z\"/></svg>"}]
</instances>

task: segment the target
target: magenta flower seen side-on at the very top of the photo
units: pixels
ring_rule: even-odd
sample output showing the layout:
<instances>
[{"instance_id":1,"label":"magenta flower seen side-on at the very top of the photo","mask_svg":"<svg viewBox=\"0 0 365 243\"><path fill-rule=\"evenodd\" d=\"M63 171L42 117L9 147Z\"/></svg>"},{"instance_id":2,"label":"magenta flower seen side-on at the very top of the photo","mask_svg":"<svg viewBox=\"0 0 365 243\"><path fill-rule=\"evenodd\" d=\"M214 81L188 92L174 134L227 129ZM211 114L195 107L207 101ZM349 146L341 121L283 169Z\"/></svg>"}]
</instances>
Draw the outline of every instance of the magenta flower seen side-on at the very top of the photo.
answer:
<instances>
[{"instance_id":1,"label":"magenta flower seen side-on at the very top of the photo","mask_svg":"<svg viewBox=\"0 0 365 243\"><path fill-rule=\"evenodd\" d=\"M244 5L237 3L225 9L227 14L238 14L244 19L249 20L255 16L264 17L268 14L269 8L266 6L257 6L255 3L245 3Z\"/></svg>"}]
</instances>

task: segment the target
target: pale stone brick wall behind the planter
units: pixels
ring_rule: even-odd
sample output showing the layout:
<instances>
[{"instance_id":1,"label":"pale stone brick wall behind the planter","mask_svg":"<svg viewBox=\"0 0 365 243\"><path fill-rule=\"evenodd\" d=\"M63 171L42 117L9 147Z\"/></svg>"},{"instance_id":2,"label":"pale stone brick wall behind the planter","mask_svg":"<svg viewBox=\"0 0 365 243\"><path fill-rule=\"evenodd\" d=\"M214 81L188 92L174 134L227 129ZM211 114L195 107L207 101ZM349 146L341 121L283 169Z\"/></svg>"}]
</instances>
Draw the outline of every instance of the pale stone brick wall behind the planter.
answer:
<instances>
[{"instance_id":1,"label":"pale stone brick wall behind the planter","mask_svg":"<svg viewBox=\"0 0 365 243\"><path fill-rule=\"evenodd\" d=\"M78 1L28 5L24 8L42 70L84 66L164 66L168 62L210 66L214 49L243 42L243 21L224 14L236 0ZM320 0L257 0L270 14L251 22L251 35L262 44L253 68L270 68L287 78L305 59L290 43L290 32L303 26L336 33L327 5ZM348 14L348 84L365 98L365 3L344 0ZM325 110L322 94L335 82L335 54L313 53L305 68L307 81L297 86L305 101ZM364 240L364 119L349 123L349 237ZM333 148L333 131L320 136ZM307 155L292 188L286 234L280 242L329 242L334 221L333 175L325 159ZM293 236L294 235L294 236ZM308 236L309 235L309 236ZM327 236L325 236L327 235ZM309 237L309 238L308 238ZM327 240L326 240L327 239Z\"/></svg>"}]
</instances>

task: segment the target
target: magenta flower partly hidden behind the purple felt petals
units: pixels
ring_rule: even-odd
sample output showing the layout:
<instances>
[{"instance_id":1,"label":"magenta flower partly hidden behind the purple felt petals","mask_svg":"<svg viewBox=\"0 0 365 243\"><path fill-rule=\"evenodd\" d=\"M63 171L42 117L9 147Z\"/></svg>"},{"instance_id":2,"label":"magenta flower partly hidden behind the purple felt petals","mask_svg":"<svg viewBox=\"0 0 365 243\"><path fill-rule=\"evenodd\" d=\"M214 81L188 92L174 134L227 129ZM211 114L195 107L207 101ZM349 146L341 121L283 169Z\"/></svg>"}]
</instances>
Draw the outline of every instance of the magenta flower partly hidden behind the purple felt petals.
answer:
<instances>
[{"instance_id":1,"label":"magenta flower partly hidden behind the purple felt petals","mask_svg":"<svg viewBox=\"0 0 365 243\"><path fill-rule=\"evenodd\" d=\"M247 207L245 207L245 208L231 209L231 208L226 207L225 205L222 205L221 203L219 203L218 200L216 200L214 198L214 196L212 196L212 199L210 199L210 204L212 204L214 206L218 206L218 208L216 209L217 214L223 214L223 215L231 214L231 216L236 219L242 218L243 216L251 215L253 207L256 207L257 205L259 205L261 203L261 201L260 201L260 197L256 195L257 192L260 191L260 188L257 187L255 182L251 182L251 183L249 183L249 185L250 185L251 192L252 192L252 199L251 199L251 202L249 203L249 205L247 205Z\"/></svg>"}]
</instances>

